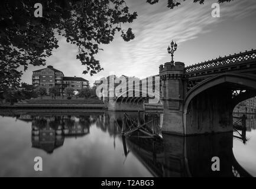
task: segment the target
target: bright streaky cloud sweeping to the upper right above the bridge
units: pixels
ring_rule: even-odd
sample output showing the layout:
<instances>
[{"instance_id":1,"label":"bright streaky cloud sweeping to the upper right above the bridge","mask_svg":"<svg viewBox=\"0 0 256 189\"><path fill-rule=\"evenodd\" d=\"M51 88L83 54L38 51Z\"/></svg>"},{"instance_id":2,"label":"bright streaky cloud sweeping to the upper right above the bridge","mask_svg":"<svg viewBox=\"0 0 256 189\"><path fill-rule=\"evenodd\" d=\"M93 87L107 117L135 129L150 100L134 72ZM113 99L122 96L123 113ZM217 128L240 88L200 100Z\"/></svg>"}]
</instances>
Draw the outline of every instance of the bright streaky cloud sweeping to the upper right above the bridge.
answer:
<instances>
[{"instance_id":1,"label":"bright streaky cloud sweeping to the upper right above the bridge","mask_svg":"<svg viewBox=\"0 0 256 189\"><path fill-rule=\"evenodd\" d=\"M167 56L166 48L171 40L174 39L181 45L205 32L210 32L214 24L225 19L246 17L256 6L255 2L248 1L230 3L221 7L222 18L212 18L209 1L204 5L186 1L173 10L164 7L166 1L161 1L159 4L158 11L154 9L154 5L134 5L144 6L144 8L138 7L140 14L132 24L136 38L127 44L120 40L118 45L120 50L116 52L117 58L110 58L109 64L122 65L119 72L138 77L157 74L158 70L155 69Z\"/></svg>"}]
</instances>

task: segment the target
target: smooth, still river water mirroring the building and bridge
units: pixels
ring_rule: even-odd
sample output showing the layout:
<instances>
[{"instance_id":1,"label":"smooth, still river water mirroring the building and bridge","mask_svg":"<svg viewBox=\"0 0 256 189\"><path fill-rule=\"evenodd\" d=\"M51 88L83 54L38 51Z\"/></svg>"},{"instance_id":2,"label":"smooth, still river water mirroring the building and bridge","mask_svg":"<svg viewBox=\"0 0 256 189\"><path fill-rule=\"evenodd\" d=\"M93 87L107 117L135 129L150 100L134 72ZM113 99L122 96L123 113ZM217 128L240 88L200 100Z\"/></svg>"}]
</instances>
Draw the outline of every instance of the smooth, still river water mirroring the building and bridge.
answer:
<instances>
[{"instance_id":1,"label":"smooth, still river water mirroring the building and bridge","mask_svg":"<svg viewBox=\"0 0 256 189\"><path fill-rule=\"evenodd\" d=\"M161 115L141 113L140 131L122 137L138 124L138 113L40 112L0 113L1 177L187 177L256 176L256 116L247 119L247 141L233 133L161 135ZM124 119L125 117L125 119ZM122 119L123 118L123 119ZM234 134L235 135L235 134ZM211 158L221 159L221 171L211 170ZM43 171L34 171L34 158Z\"/></svg>"}]
</instances>

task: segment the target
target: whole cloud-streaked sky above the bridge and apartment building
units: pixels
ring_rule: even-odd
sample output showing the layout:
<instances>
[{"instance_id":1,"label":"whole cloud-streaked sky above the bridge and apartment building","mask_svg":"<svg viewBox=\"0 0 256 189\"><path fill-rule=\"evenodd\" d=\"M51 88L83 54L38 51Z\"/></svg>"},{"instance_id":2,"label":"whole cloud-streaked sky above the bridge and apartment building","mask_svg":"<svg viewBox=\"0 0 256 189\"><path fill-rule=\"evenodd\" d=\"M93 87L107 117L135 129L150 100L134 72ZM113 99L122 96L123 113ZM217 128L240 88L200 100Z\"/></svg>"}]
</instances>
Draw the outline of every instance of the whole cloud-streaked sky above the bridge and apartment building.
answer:
<instances>
[{"instance_id":1,"label":"whole cloud-streaked sky above the bridge and apartment building","mask_svg":"<svg viewBox=\"0 0 256 189\"><path fill-rule=\"evenodd\" d=\"M90 84L109 74L145 78L158 74L160 64L170 61L167 47L171 40L178 44L174 61L182 61L189 66L219 56L239 53L256 48L256 1L234 0L220 4L219 18L212 17L212 4L195 4L192 0L182 1L182 5L169 9L167 0L150 5L146 0L126 0L130 12L138 17L131 24L135 39L125 42L120 33L110 44L100 45L96 58L103 71L90 76L82 74L85 66L76 59L78 48L58 37L59 48L46 58L46 66L61 70L64 76L83 77ZM29 66L22 76L22 82L31 84L32 71L46 66Z\"/></svg>"}]
</instances>

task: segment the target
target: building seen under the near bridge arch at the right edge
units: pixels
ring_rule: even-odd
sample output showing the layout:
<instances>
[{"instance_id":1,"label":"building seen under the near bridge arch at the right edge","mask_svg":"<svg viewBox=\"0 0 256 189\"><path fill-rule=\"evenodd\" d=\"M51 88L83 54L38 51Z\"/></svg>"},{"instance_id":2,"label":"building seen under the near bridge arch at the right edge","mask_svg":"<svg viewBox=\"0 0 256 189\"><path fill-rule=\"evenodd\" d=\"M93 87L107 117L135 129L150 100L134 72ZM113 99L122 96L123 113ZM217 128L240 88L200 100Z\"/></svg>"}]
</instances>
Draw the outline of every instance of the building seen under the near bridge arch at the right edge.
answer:
<instances>
[{"instance_id":1,"label":"building seen under the near bridge arch at the right edge","mask_svg":"<svg viewBox=\"0 0 256 189\"><path fill-rule=\"evenodd\" d=\"M235 113L256 113L256 97L238 103L234 109Z\"/></svg>"}]
</instances>

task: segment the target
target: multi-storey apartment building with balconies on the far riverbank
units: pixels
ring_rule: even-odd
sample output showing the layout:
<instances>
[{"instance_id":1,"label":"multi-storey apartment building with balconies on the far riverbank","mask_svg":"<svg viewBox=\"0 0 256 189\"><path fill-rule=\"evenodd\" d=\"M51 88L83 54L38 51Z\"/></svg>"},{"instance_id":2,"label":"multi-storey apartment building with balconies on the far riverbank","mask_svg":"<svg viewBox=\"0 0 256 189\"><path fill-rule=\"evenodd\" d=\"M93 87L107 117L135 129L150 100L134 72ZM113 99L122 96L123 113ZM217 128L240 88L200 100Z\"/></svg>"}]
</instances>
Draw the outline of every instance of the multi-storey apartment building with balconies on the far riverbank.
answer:
<instances>
[{"instance_id":1,"label":"multi-storey apartment building with balconies on the far riverbank","mask_svg":"<svg viewBox=\"0 0 256 189\"><path fill-rule=\"evenodd\" d=\"M64 77L63 72L54 69L53 66L47 66L45 69L33 71L32 84L35 87L45 87L47 92L51 87L56 86L59 88L60 93L62 93L66 87L71 87L79 91L89 86L88 80L76 76Z\"/></svg>"}]
</instances>

